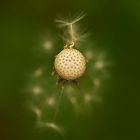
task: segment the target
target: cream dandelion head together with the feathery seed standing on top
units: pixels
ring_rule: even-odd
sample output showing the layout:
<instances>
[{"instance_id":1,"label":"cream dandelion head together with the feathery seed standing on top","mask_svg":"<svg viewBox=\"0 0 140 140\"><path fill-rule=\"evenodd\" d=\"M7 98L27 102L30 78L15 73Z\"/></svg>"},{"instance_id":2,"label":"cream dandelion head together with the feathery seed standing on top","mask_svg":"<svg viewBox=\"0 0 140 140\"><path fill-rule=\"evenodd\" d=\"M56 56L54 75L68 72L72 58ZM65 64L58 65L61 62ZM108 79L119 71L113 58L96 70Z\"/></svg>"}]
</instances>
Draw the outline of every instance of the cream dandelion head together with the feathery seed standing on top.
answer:
<instances>
[{"instance_id":1,"label":"cream dandelion head together with the feathery seed standing on top","mask_svg":"<svg viewBox=\"0 0 140 140\"><path fill-rule=\"evenodd\" d=\"M79 40L80 35L76 32L75 24L85 16L80 15L71 22L56 20L60 27L67 27L67 40L64 49L55 57L54 70L63 80L77 80L86 70L86 58L77 49L75 43Z\"/></svg>"}]
</instances>

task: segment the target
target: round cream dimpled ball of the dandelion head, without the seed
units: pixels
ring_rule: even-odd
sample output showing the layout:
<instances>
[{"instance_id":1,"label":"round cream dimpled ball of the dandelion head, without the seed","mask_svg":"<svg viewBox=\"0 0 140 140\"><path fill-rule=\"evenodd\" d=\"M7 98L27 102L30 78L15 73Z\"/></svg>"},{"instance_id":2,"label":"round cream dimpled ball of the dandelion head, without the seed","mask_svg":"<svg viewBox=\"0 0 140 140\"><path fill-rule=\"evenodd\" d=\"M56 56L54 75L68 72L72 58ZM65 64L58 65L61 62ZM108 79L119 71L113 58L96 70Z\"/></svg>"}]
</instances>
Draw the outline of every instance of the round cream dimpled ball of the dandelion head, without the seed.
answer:
<instances>
[{"instance_id":1,"label":"round cream dimpled ball of the dandelion head, without the seed","mask_svg":"<svg viewBox=\"0 0 140 140\"><path fill-rule=\"evenodd\" d=\"M76 49L64 49L56 56L54 67L62 79L75 80L85 72L85 57Z\"/></svg>"}]
</instances>

